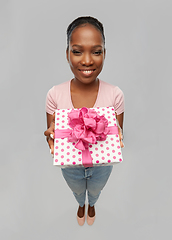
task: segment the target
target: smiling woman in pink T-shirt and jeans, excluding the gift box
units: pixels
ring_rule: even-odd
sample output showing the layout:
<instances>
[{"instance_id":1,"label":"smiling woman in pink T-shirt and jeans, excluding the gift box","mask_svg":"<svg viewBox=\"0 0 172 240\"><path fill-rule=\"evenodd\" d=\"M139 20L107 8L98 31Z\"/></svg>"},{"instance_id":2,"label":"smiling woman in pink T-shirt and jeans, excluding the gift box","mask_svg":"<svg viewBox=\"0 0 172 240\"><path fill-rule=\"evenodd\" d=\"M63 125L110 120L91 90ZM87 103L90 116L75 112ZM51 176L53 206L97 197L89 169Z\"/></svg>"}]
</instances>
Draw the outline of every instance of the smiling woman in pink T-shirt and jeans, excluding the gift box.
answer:
<instances>
[{"instance_id":1,"label":"smiling woman in pink T-shirt and jeans, excluding the gift box","mask_svg":"<svg viewBox=\"0 0 172 240\"><path fill-rule=\"evenodd\" d=\"M46 112L47 141L53 153L55 110L69 108L114 107L122 129L124 115L124 95L117 86L98 78L105 60L105 37L103 25L93 17L79 17L67 29L66 57L74 75L70 81L51 88L47 94ZM120 144L122 132L119 129ZM106 185L112 166L63 168L62 174L71 188L79 208L77 220L80 226L85 222L85 199L88 192L87 223L95 220L94 204Z\"/></svg>"}]
</instances>

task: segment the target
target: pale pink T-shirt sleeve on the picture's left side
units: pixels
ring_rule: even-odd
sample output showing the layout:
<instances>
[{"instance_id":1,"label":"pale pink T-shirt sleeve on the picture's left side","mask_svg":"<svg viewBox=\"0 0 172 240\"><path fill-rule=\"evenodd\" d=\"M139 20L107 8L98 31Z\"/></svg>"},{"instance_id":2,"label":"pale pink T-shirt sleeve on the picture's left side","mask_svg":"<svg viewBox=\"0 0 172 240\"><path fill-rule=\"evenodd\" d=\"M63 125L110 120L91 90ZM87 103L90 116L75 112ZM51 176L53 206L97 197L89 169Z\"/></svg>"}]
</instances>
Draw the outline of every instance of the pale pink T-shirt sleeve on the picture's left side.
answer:
<instances>
[{"instance_id":1,"label":"pale pink T-shirt sleeve on the picture's left side","mask_svg":"<svg viewBox=\"0 0 172 240\"><path fill-rule=\"evenodd\" d=\"M46 112L53 115L55 110L57 109L57 103L55 101L55 91L54 87L52 87L46 97Z\"/></svg>"}]
</instances>

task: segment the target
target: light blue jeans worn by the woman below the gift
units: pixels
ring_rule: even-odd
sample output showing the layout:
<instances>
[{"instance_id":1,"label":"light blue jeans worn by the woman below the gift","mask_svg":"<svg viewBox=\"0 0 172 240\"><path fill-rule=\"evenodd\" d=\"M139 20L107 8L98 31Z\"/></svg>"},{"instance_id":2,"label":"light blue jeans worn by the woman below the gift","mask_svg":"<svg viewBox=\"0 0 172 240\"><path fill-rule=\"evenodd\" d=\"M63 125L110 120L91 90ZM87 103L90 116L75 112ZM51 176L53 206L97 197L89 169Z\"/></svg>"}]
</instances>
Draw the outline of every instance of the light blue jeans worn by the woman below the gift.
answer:
<instances>
[{"instance_id":1,"label":"light blue jeans worn by the woman below the gift","mask_svg":"<svg viewBox=\"0 0 172 240\"><path fill-rule=\"evenodd\" d=\"M92 207L106 185L113 166L62 168L62 174L81 207L85 204L86 190L88 203Z\"/></svg>"}]
</instances>

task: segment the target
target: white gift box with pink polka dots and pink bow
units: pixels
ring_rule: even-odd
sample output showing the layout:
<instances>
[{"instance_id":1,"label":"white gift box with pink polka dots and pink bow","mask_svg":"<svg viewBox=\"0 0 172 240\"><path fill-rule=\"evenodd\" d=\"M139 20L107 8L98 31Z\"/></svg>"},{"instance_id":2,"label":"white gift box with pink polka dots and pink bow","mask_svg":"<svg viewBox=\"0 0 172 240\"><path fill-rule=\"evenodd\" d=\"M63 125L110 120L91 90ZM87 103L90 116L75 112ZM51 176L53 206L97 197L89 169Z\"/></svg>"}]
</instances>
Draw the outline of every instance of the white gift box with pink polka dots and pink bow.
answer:
<instances>
[{"instance_id":1,"label":"white gift box with pink polka dots and pink bow","mask_svg":"<svg viewBox=\"0 0 172 240\"><path fill-rule=\"evenodd\" d=\"M92 167L122 161L113 107L56 110L54 165Z\"/></svg>"}]
</instances>

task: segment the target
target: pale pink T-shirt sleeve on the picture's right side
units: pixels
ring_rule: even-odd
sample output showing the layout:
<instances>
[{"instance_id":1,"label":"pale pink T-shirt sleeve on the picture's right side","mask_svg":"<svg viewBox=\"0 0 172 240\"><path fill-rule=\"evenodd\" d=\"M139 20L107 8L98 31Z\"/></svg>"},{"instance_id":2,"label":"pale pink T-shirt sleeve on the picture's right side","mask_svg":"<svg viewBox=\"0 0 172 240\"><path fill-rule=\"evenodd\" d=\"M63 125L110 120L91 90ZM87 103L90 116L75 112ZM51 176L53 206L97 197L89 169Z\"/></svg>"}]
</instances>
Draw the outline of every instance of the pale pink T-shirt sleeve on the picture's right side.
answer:
<instances>
[{"instance_id":1,"label":"pale pink T-shirt sleeve on the picture's right side","mask_svg":"<svg viewBox=\"0 0 172 240\"><path fill-rule=\"evenodd\" d=\"M124 94L119 87L115 88L114 108L117 115L124 112Z\"/></svg>"}]
</instances>

